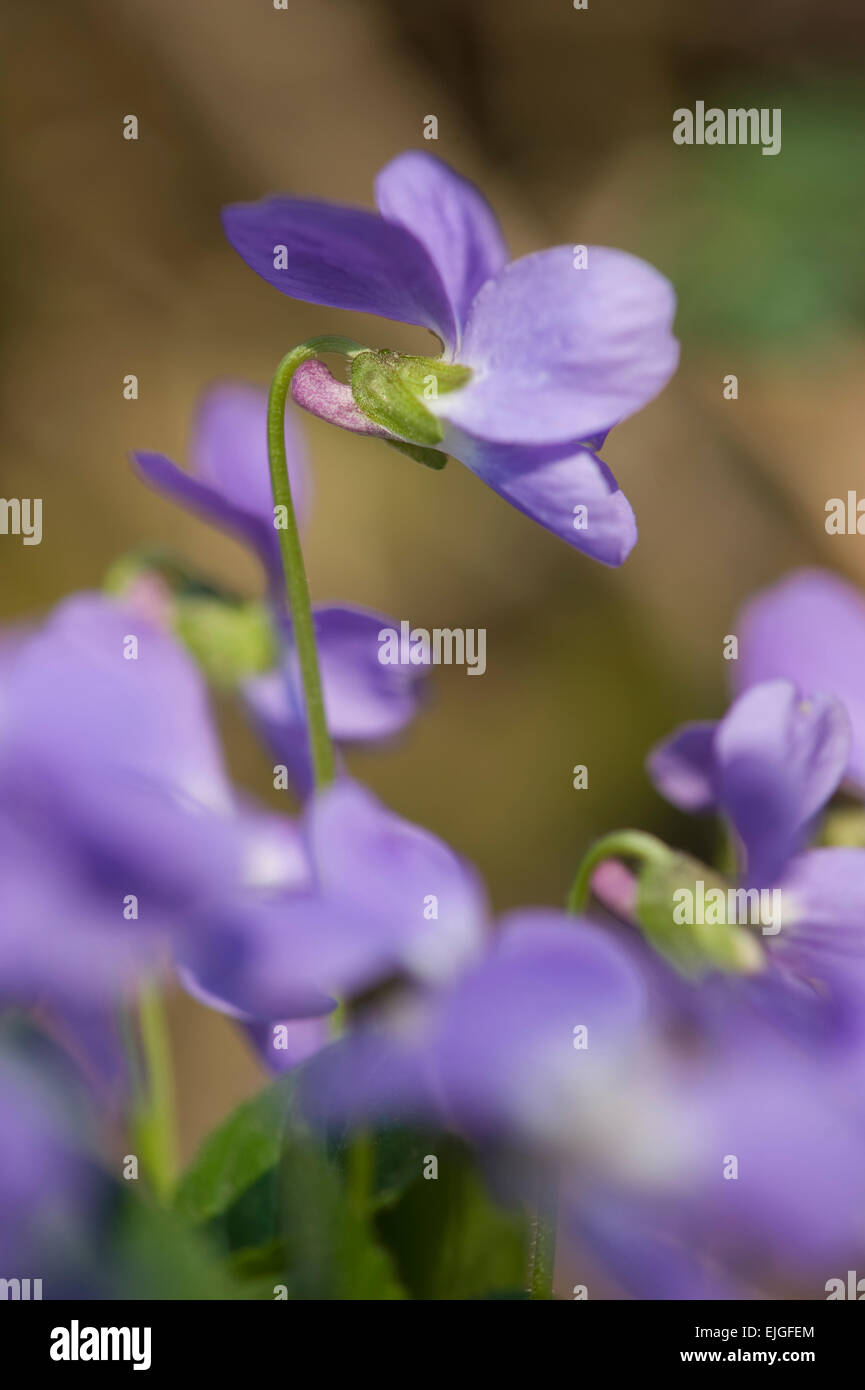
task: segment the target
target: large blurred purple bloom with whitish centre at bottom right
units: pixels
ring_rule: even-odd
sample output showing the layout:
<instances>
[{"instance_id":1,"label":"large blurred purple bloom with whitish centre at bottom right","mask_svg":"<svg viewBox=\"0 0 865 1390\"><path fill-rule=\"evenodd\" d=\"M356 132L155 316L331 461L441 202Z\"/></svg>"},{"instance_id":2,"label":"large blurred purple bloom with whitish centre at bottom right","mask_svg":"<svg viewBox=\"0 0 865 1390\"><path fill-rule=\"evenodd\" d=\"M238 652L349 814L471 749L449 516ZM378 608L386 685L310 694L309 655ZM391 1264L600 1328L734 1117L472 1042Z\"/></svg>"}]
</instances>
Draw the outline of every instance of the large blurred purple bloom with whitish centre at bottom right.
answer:
<instances>
[{"instance_id":1,"label":"large blurred purple bloom with whitish centre at bottom right","mask_svg":"<svg viewBox=\"0 0 865 1390\"><path fill-rule=\"evenodd\" d=\"M307 1063L306 1106L456 1129L523 1198L555 1186L638 1295L741 1295L779 1261L822 1290L865 1237L861 1087L734 998L705 1034L672 1001L591 923L516 913L413 1015Z\"/></svg>"}]
</instances>

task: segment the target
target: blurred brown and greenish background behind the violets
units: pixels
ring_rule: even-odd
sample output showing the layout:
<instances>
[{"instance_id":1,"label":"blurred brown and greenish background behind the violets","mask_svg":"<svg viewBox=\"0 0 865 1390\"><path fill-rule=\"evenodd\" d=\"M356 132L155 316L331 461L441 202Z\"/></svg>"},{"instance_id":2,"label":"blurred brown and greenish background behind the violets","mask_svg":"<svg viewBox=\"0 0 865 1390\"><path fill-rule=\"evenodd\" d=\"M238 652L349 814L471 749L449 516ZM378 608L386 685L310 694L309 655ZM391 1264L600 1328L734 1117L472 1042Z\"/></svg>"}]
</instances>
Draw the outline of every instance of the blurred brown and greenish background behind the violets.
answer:
<instances>
[{"instance_id":1,"label":"blurred brown and greenish background behind the violets","mask_svg":"<svg viewBox=\"0 0 865 1390\"><path fill-rule=\"evenodd\" d=\"M558 903L587 844L708 830L642 774L654 738L718 714L722 639L801 563L865 580L823 506L862 480L865 18L858 0L4 0L0 434L4 496L45 499L43 543L0 538L0 613L96 585L122 550L184 549L252 591L231 542L142 489L131 448L185 456L199 391L266 382L318 332L426 349L412 329L293 304L223 240L266 192L370 203L424 146L477 179L515 254L601 242L680 293L683 366L605 457L641 538L622 571L510 510L458 463L431 474L309 421L314 596L485 627L488 669L434 676L398 748L352 766L483 870L496 908ZM783 149L684 149L679 106L780 106ZM138 142L122 139L135 114ZM140 382L122 399L122 377ZM722 396L738 377L740 399ZM231 764L270 762L225 713ZM572 788L587 763L588 791ZM273 794L270 794L273 798ZM259 1083L232 1029L174 1013L185 1148ZM216 1079L216 1080L214 1080Z\"/></svg>"}]
</instances>

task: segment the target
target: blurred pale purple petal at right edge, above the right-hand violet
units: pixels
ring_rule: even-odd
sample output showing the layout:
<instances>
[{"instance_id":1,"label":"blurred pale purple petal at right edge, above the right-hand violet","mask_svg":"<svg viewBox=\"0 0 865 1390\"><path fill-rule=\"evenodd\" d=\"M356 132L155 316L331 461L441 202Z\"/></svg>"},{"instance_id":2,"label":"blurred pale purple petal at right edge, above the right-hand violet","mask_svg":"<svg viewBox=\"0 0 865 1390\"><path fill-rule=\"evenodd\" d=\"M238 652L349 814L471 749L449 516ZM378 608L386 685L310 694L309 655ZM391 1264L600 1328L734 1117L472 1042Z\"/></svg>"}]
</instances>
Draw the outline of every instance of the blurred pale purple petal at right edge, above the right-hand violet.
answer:
<instances>
[{"instance_id":1,"label":"blurred pale purple petal at right edge, above the right-hand violet","mask_svg":"<svg viewBox=\"0 0 865 1390\"><path fill-rule=\"evenodd\" d=\"M836 695L850 716L847 771L865 787L865 599L827 570L797 570L745 603L737 624L738 691L784 677Z\"/></svg>"}]
</instances>

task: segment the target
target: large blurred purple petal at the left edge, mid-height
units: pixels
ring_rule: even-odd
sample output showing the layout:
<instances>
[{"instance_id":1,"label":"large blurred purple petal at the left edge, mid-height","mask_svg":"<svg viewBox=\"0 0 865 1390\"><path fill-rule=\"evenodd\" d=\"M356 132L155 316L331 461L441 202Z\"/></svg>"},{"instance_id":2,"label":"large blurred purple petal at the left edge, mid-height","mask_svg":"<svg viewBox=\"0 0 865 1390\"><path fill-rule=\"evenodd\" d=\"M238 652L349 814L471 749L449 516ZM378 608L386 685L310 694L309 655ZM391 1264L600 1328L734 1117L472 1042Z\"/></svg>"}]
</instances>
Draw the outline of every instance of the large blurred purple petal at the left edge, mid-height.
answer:
<instances>
[{"instance_id":1,"label":"large blurred purple petal at the left edge, mid-height","mask_svg":"<svg viewBox=\"0 0 865 1390\"><path fill-rule=\"evenodd\" d=\"M28 834L65 845L114 923L127 894L153 923L292 880L296 833L238 808L199 671L140 614L103 595L67 600L19 646L0 698L4 794Z\"/></svg>"}]
</instances>

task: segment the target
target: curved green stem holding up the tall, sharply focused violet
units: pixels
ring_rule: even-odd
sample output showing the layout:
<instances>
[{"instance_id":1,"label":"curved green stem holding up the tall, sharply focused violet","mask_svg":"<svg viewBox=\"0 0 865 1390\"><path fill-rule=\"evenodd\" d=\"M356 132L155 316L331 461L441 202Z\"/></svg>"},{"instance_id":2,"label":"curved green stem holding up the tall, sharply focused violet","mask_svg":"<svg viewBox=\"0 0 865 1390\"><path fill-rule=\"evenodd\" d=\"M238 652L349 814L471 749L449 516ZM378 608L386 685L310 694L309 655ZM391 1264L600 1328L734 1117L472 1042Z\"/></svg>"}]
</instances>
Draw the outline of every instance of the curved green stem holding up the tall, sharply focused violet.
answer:
<instances>
[{"instance_id":1,"label":"curved green stem holding up the tall, sharply focused violet","mask_svg":"<svg viewBox=\"0 0 865 1390\"><path fill-rule=\"evenodd\" d=\"M321 671L318 667L318 651L316 646L316 630L313 626L313 610L309 596L309 582L303 564L303 550L300 548L300 532L298 531L298 517L288 478L288 459L285 457L285 400L291 389L291 381L303 361L316 357L320 352L338 352L353 357L363 352L363 345L352 338L310 338L309 342L292 348L285 354L274 373L267 399L267 457L270 460L270 485L274 496L274 509L282 507L285 512L285 525L277 528L280 539L280 555L282 557L282 573L285 575L285 592L293 627L295 646L298 651L298 664L300 667L300 684L303 687L303 703L306 706L306 726L309 731L310 755L313 763L314 783L317 788L327 787L334 780L334 748L327 730L324 714L324 698L321 694Z\"/></svg>"}]
</instances>

